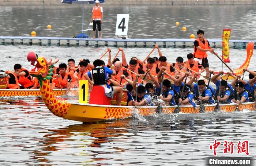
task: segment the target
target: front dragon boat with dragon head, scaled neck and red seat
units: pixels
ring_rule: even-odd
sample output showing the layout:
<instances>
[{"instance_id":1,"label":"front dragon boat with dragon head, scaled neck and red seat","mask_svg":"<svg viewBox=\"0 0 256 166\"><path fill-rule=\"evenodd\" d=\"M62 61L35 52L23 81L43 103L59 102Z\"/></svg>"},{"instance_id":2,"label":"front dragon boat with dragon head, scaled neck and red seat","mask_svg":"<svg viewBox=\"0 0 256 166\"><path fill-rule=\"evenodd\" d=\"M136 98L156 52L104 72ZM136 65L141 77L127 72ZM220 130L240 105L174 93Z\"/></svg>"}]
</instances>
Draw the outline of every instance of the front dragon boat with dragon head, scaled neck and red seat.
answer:
<instances>
[{"instance_id":1,"label":"front dragon boat with dragon head, scaled neck and red seat","mask_svg":"<svg viewBox=\"0 0 256 166\"><path fill-rule=\"evenodd\" d=\"M95 121L124 119L132 117L134 113L142 116L151 116L154 115L157 111L157 106L134 107L109 105L110 100L105 96L104 88L102 86L93 87L93 90L90 93L89 104L81 104L58 99L49 85L49 79L52 78L51 76L53 75L53 66L51 66L50 63L46 61L45 57L39 57L34 52L30 52L27 55L27 59L31 63L31 65L35 66L35 68L37 67L37 72L33 71L32 69L32 71L30 71L30 74L38 78L42 99L44 100L46 107L56 116L62 117L64 119L91 123ZM246 60L248 59L249 58L246 58ZM248 67L249 62L245 62L244 64L242 65L242 67ZM125 95L123 95L123 97L125 98ZM237 107L236 104L219 105L219 111L224 112L233 112L236 110ZM206 109L206 113L209 113L214 111L216 105L204 106ZM176 107L177 106L163 106L162 113L172 114ZM238 108L241 111L245 109L249 111L255 111L255 102L242 103L238 105ZM180 106L180 112L199 113L199 106L197 106L197 108L194 108L192 106Z\"/></svg>"}]
</instances>

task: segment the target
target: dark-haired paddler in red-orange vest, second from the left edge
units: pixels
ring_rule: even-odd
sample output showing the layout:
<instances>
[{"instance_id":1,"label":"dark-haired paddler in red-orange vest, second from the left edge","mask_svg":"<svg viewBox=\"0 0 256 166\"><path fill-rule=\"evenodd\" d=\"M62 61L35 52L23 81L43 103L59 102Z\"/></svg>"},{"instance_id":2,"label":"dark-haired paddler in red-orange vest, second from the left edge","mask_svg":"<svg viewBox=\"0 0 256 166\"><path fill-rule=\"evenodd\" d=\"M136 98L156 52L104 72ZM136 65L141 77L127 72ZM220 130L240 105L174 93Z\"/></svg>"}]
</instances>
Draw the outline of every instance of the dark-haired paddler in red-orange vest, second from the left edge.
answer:
<instances>
[{"instance_id":1,"label":"dark-haired paddler in red-orange vest, second from the left edge","mask_svg":"<svg viewBox=\"0 0 256 166\"><path fill-rule=\"evenodd\" d=\"M18 82L21 85L20 89L30 89L34 86L29 70L24 69L20 64L14 65L14 74L17 76Z\"/></svg>"}]
</instances>

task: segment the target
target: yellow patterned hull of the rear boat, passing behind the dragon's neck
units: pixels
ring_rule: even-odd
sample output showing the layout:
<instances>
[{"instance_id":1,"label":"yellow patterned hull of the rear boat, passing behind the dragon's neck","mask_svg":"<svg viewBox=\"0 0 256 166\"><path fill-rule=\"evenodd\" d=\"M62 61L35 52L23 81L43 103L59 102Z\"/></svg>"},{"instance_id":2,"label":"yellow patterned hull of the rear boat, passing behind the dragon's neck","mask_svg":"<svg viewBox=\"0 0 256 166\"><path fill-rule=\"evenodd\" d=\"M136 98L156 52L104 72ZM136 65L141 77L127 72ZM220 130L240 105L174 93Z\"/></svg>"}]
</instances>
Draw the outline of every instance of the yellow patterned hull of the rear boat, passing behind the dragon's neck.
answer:
<instances>
[{"instance_id":1,"label":"yellow patterned hull of the rear boat, passing behind the dragon's neck","mask_svg":"<svg viewBox=\"0 0 256 166\"><path fill-rule=\"evenodd\" d=\"M67 93L67 89L62 89L64 95ZM61 89L53 89L55 96L63 96ZM78 96L79 89L70 89L72 96ZM41 96L40 89L0 89L0 97L8 96Z\"/></svg>"}]
</instances>

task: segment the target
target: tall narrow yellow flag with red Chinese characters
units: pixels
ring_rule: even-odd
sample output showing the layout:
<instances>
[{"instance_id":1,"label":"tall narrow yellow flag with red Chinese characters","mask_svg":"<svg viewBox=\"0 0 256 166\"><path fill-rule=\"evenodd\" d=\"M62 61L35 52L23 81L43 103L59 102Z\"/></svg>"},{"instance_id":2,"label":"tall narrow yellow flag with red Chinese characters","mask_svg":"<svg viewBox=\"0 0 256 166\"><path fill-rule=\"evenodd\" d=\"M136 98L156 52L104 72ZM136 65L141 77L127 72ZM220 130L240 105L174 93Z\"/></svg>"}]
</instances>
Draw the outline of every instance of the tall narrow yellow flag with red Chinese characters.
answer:
<instances>
[{"instance_id":1,"label":"tall narrow yellow flag with red Chinese characters","mask_svg":"<svg viewBox=\"0 0 256 166\"><path fill-rule=\"evenodd\" d=\"M230 30L223 30L222 36L222 59L224 62L230 62L229 60L229 36Z\"/></svg>"}]
</instances>

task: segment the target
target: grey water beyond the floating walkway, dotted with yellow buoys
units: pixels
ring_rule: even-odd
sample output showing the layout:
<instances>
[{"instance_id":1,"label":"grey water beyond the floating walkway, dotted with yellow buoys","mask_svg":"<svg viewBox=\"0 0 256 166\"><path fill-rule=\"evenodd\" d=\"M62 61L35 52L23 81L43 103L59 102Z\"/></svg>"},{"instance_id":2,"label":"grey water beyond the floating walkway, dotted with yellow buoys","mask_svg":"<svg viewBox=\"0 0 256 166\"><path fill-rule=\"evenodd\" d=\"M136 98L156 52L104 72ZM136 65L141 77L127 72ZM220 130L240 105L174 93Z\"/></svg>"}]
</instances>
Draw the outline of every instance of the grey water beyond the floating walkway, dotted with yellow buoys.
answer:
<instances>
[{"instance_id":1,"label":"grey water beyond the floating walkway, dotted with yellow buoys","mask_svg":"<svg viewBox=\"0 0 256 166\"><path fill-rule=\"evenodd\" d=\"M130 38L189 38L201 28L206 38L221 39L222 30L228 28L230 39L256 39L254 5L102 6L103 38L115 37L117 14L129 14ZM93 5L84 6L84 29L89 27L92 8ZM31 31L36 31L37 36L71 37L82 30L82 7L0 6L0 20L1 36L30 36ZM176 22L180 26L176 27ZM48 24L52 25L51 30L46 28Z\"/></svg>"}]
</instances>

